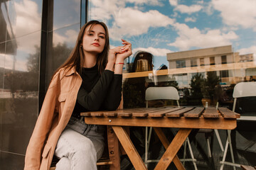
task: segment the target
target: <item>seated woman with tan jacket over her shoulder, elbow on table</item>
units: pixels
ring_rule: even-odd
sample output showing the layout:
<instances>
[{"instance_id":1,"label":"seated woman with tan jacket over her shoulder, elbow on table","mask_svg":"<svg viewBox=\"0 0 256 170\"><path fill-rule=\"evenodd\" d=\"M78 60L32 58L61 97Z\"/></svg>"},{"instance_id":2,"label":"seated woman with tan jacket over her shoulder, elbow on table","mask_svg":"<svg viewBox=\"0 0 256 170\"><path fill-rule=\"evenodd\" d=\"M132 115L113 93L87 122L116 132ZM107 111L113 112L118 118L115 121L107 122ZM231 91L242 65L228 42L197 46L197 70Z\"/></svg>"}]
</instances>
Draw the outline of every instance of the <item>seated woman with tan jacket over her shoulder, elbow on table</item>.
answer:
<instances>
[{"instance_id":1,"label":"seated woman with tan jacket over her shoulder, elbow on table","mask_svg":"<svg viewBox=\"0 0 256 170\"><path fill-rule=\"evenodd\" d=\"M90 21L80 30L73 52L55 72L28 144L24 169L97 169L104 128L87 125L84 111L115 110L121 101L122 67L132 45L109 50L107 26Z\"/></svg>"}]
</instances>

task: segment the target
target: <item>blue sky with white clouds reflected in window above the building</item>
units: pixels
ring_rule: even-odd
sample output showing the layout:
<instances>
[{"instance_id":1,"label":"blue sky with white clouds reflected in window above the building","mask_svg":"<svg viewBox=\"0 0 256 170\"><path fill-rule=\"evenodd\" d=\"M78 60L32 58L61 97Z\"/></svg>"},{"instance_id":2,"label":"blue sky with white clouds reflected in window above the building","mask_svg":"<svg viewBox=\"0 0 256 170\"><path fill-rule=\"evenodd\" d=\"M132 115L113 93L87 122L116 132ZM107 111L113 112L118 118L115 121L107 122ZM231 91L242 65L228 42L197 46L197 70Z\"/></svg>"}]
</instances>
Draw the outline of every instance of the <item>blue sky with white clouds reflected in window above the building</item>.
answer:
<instances>
[{"instance_id":1,"label":"blue sky with white clouds reflected in window above the building","mask_svg":"<svg viewBox=\"0 0 256 170\"><path fill-rule=\"evenodd\" d=\"M155 68L166 53L233 45L240 55L256 53L256 1L91 0L89 20L104 21L111 45L124 38L133 51L146 50Z\"/></svg>"}]
</instances>

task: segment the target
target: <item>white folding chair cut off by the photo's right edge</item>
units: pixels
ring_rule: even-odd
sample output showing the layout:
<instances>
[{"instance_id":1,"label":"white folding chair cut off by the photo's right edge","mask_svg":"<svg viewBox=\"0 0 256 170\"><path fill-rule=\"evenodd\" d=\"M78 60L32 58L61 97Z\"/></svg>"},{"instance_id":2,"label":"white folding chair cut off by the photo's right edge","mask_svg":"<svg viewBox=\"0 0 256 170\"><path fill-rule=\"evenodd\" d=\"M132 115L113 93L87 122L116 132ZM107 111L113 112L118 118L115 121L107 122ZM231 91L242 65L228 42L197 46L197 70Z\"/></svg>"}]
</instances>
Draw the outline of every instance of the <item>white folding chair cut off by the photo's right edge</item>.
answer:
<instances>
[{"instance_id":1,"label":"white folding chair cut off by the photo's right edge","mask_svg":"<svg viewBox=\"0 0 256 170\"><path fill-rule=\"evenodd\" d=\"M234 87L234 91L233 91L233 98L234 98L233 111L235 111L235 105L237 102L237 98L250 97L250 96L256 96L256 82L240 82L240 83L236 84ZM238 120L252 120L252 119L255 119L255 116L241 115L240 118L238 118ZM220 170L223 169L225 164L233 166L234 170L235 170L235 167L240 167L240 164L235 164L230 133L231 133L231 130L228 130L228 138L227 138L227 142L225 144L223 160L222 160L222 162L220 162L220 164L221 164ZM230 154L231 154L232 162L225 162L225 157L227 156L227 152L228 152L228 146L230 147Z\"/></svg>"}]
</instances>

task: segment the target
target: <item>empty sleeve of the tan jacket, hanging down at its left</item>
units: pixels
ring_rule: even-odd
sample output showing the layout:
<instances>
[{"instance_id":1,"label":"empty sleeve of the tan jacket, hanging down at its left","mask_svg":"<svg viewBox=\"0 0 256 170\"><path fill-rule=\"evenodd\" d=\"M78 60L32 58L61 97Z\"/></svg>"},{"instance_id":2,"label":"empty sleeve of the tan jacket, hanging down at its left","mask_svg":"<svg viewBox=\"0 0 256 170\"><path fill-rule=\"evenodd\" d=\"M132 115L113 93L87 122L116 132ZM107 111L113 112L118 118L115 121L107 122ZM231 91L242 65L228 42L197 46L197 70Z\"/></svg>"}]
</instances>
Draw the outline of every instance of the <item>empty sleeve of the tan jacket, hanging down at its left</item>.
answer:
<instances>
[{"instance_id":1,"label":"empty sleeve of the tan jacket, hanging down at its left","mask_svg":"<svg viewBox=\"0 0 256 170\"><path fill-rule=\"evenodd\" d=\"M56 100L58 100L58 86L60 84L59 77L59 74L56 73L50 82L41 112L38 116L38 120L36 121L36 126L26 149L24 170L40 169L43 147L53 123L55 104Z\"/></svg>"}]
</instances>

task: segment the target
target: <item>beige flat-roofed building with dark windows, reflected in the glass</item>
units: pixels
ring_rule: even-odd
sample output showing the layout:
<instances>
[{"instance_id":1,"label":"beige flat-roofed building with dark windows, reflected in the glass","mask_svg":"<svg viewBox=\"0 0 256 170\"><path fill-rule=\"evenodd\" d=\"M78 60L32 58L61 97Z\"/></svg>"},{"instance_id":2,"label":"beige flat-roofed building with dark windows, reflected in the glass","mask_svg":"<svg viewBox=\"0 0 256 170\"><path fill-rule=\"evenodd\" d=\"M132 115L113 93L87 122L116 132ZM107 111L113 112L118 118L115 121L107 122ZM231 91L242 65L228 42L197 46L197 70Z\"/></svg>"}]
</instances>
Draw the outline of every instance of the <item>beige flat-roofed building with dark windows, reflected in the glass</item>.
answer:
<instances>
[{"instance_id":1,"label":"beige flat-roofed building with dark windows, reflected in the glass","mask_svg":"<svg viewBox=\"0 0 256 170\"><path fill-rule=\"evenodd\" d=\"M215 72L223 85L237 84L256 77L253 54L240 55L239 52L233 52L232 45L173 52L167 54L167 60L169 69L188 70L182 76L176 75L180 88L189 88L191 78L196 73L207 77L207 72Z\"/></svg>"}]
</instances>

